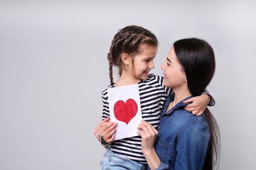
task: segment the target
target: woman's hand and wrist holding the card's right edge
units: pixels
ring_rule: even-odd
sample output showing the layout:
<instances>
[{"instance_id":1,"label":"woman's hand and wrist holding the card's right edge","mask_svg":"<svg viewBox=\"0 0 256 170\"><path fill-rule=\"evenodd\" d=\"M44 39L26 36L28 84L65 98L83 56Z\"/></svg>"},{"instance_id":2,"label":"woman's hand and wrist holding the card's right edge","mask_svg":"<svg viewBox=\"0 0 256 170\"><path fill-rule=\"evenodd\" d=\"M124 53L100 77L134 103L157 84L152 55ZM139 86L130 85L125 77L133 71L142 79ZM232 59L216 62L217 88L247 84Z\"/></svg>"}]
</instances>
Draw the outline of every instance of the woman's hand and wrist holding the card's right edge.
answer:
<instances>
[{"instance_id":1,"label":"woman's hand and wrist holding the card's right edge","mask_svg":"<svg viewBox=\"0 0 256 170\"><path fill-rule=\"evenodd\" d=\"M141 136L141 150L144 155L154 152L154 143L158 136L158 131L148 122L142 120L138 126L137 133Z\"/></svg>"}]
</instances>

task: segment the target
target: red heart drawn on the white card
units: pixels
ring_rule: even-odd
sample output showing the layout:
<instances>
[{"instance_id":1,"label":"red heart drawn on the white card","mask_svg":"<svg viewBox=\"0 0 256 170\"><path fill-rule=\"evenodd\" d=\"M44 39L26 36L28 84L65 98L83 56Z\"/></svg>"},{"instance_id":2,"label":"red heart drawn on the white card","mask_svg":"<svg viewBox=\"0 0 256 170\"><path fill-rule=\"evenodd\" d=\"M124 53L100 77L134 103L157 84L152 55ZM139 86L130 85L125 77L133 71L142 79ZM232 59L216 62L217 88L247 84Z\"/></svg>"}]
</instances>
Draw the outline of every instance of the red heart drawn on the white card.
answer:
<instances>
[{"instance_id":1,"label":"red heart drawn on the white card","mask_svg":"<svg viewBox=\"0 0 256 170\"><path fill-rule=\"evenodd\" d=\"M137 114L138 105L133 99L127 99L126 103L119 100L114 105L116 119L128 124Z\"/></svg>"}]
</instances>

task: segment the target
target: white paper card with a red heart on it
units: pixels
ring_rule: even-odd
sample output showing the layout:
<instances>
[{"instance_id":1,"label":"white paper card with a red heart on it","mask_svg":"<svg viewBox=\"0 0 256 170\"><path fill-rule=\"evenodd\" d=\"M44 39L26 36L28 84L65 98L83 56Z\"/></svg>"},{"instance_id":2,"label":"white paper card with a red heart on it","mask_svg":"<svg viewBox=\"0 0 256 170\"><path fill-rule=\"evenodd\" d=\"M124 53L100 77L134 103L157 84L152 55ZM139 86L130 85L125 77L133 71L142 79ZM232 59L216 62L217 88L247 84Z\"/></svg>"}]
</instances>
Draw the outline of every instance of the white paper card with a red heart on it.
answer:
<instances>
[{"instance_id":1,"label":"white paper card with a red heart on it","mask_svg":"<svg viewBox=\"0 0 256 170\"><path fill-rule=\"evenodd\" d=\"M139 84L118 86L108 89L110 120L117 122L115 139L137 136L142 120Z\"/></svg>"}]
</instances>

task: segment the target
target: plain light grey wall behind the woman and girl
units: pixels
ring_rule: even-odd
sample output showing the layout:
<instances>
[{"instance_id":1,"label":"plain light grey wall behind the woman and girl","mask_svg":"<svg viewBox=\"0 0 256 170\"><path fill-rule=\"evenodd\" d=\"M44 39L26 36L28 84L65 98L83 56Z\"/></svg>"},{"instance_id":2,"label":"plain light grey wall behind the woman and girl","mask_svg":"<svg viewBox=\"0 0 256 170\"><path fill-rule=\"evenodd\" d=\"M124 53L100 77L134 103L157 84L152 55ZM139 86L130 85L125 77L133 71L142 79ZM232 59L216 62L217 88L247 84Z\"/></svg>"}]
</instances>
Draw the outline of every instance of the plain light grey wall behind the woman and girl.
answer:
<instances>
[{"instance_id":1,"label":"plain light grey wall behind the woman and girl","mask_svg":"<svg viewBox=\"0 0 256 170\"><path fill-rule=\"evenodd\" d=\"M255 1L0 1L0 169L100 169L106 54L126 25L214 48L220 169L255 168Z\"/></svg>"}]
</instances>

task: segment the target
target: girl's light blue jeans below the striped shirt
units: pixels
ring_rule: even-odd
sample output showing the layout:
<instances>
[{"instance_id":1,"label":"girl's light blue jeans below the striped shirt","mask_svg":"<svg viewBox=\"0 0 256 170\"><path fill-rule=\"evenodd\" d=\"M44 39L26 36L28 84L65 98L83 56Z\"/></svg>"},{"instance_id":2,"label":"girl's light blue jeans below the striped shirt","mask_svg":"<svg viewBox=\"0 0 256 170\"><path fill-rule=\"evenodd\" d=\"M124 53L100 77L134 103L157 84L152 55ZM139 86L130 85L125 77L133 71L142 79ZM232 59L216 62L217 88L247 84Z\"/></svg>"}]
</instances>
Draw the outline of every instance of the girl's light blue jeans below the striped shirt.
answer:
<instances>
[{"instance_id":1,"label":"girl's light blue jeans below the striped shirt","mask_svg":"<svg viewBox=\"0 0 256 170\"><path fill-rule=\"evenodd\" d=\"M143 163L139 163L137 161L130 160L129 158L125 158L119 154L112 152L111 149L107 149L103 154L103 160L100 161L100 166L102 170L108 169L146 169L147 165Z\"/></svg>"}]
</instances>

